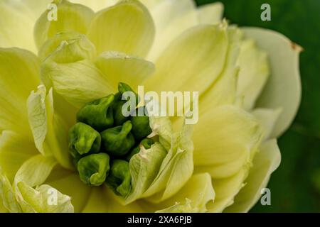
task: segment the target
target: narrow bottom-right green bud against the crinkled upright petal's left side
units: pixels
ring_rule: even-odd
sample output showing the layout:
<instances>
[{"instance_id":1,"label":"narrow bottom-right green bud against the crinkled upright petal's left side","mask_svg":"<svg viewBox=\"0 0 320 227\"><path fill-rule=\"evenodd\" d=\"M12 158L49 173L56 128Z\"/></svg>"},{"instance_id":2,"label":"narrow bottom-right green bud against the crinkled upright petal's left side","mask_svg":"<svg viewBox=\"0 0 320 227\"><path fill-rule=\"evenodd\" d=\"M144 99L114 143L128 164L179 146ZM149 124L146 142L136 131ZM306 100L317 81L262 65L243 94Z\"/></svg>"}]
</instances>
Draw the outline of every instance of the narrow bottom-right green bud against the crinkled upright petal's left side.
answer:
<instances>
[{"instance_id":1,"label":"narrow bottom-right green bud against the crinkled upright petal's left side","mask_svg":"<svg viewBox=\"0 0 320 227\"><path fill-rule=\"evenodd\" d=\"M106 183L115 194L124 198L127 197L131 192L129 162L113 160Z\"/></svg>"}]
</instances>

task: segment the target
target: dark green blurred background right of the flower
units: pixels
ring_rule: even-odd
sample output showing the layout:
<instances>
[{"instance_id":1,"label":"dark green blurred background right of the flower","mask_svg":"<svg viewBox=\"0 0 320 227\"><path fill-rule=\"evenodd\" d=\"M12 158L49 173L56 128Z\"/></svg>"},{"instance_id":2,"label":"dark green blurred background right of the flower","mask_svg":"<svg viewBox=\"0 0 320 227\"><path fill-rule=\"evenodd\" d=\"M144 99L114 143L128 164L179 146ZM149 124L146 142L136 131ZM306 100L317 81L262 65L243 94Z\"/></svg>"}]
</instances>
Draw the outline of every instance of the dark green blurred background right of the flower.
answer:
<instances>
[{"instance_id":1,"label":"dark green blurred background right of the flower","mask_svg":"<svg viewBox=\"0 0 320 227\"><path fill-rule=\"evenodd\" d=\"M252 212L320 212L320 1L221 2L230 23L279 31L304 48L300 57L302 104L292 127L278 140L282 163L268 184L271 206L258 203ZM271 6L272 21L260 19L264 3Z\"/></svg>"}]
</instances>

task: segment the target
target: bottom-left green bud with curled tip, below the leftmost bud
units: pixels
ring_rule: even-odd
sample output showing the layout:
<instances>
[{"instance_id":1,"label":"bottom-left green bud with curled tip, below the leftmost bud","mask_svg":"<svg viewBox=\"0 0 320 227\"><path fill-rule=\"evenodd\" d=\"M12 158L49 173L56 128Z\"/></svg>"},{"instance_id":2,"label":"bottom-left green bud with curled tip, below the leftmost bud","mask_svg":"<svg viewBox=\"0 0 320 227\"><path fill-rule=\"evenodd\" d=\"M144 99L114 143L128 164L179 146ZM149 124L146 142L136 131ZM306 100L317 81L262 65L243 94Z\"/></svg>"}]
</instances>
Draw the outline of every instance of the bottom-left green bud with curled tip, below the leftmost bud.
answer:
<instances>
[{"instance_id":1,"label":"bottom-left green bud with curled tip, below the leftmost bud","mask_svg":"<svg viewBox=\"0 0 320 227\"><path fill-rule=\"evenodd\" d=\"M110 157L105 153L87 155L78 162L80 179L85 184L100 186L110 170Z\"/></svg>"}]
</instances>

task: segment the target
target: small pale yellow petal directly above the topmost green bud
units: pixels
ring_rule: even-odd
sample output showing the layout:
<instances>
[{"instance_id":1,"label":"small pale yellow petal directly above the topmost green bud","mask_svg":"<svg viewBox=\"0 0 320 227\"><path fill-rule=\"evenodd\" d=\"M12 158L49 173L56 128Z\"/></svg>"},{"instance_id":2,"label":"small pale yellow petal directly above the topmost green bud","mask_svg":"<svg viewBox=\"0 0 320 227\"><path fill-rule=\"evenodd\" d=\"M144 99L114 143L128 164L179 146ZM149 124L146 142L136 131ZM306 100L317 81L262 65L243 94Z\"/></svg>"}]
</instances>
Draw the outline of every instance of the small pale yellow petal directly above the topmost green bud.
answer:
<instances>
[{"instance_id":1,"label":"small pale yellow petal directly above the topmost green bud","mask_svg":"<svg viewBox=\"0 0 320 227\"><path fill-rule=\"evenodd\" d=\"M107 76L112 87L124 82L134 89L142 85L155 69L152 62L114 51L102 52L97 58L96 65Z\"/></svg>"}]
</instances>

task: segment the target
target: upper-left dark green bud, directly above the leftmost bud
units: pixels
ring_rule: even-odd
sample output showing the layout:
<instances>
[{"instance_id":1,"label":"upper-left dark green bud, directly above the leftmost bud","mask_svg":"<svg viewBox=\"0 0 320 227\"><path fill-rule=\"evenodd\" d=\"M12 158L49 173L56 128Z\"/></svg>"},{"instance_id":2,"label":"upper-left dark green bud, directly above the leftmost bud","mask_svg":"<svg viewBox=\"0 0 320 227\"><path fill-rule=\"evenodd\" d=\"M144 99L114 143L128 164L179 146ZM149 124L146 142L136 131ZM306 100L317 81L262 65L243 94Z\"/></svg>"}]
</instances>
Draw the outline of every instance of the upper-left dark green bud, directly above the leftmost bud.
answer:
<instances>
[{"instance_id":1,"label":"upper-left dark green bud, directly above the leftmost bud","mask_svg":"<svg viewBox=\"0 0 320 227\"><path fill-rule=\"evenodd\" d=\"M77 114L77 120L86 123L97 131L103 131L113 125L112 101L114 95L91 101L83 106Z\"/></svg>"}]
</instances>

